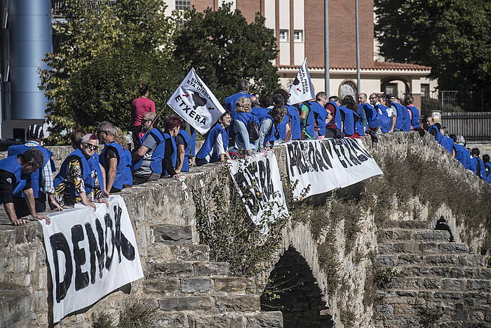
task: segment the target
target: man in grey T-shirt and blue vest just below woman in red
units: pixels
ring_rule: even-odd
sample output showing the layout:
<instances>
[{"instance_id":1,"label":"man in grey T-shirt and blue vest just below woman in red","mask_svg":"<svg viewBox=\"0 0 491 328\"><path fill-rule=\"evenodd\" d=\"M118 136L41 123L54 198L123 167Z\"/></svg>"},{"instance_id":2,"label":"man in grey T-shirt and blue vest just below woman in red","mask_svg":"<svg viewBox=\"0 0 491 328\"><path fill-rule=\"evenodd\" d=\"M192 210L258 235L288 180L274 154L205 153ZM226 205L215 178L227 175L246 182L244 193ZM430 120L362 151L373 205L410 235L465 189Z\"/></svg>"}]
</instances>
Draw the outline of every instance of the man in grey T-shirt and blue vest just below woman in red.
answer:
<instances>
[{"instance_id":1,"label":"man in grey T-shirt and blue vest just below woman in red","mask_svg":"<svg viewBox=\"0 0 491 328\"><path fill-rule=\"evenodd\" d=\"M131 155L135 185L159 180L162 174L164 143L162 132L154 127L156 116L154 112L146 112L142 118L142 131L146 132Z\"/></svg>"}]
</instances>

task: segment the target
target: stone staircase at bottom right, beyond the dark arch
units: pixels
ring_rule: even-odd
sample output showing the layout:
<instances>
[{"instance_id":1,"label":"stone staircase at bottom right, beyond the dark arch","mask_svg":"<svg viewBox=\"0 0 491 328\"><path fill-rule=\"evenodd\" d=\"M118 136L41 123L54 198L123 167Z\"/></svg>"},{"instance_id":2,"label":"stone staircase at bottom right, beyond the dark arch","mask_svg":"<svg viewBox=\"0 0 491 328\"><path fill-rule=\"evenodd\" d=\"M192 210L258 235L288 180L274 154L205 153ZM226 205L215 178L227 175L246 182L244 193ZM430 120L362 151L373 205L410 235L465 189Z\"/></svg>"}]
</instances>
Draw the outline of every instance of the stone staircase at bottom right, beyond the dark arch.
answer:
<instances>
[{"instance_id":1,"label":"stone staircase at bottom right, beyond the dark arch","mask_svg":"<svg viewBox=\"0 0 491 328\"><path fill-rule=\"evenodd\" d=\"M428 222L384 223L378 262L398 274L377 291L377 327L491 327L491 269L449 240Z\"/></svg>"}]
</instances>

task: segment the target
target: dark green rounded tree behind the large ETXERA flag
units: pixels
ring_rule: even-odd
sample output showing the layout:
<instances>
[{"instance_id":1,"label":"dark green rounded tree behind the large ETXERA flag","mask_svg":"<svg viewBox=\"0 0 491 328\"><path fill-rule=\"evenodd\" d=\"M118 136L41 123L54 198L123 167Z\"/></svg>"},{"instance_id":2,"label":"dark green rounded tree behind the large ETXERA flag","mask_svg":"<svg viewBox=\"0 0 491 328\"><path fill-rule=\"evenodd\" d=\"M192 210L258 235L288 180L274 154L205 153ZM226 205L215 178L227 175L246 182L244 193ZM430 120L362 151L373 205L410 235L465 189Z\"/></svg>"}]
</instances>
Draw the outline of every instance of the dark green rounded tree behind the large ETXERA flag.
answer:
<instances>
[{"instance_id":1,"label":"dark green rounded tree behind the large ETXERA flag","mask_svg":"<svg viewBox=\"0 0 491 328\"><path fill-rule=\"evenodd\" d=\"M193 9L184 13L174 43L176 60L184 70L194 67L219 100L236 92L239 79L253 81L251 90L257 93L278 86L274 33L260 15L248 24L227 4L204 13Z\"/></svg>"}]
</instances>

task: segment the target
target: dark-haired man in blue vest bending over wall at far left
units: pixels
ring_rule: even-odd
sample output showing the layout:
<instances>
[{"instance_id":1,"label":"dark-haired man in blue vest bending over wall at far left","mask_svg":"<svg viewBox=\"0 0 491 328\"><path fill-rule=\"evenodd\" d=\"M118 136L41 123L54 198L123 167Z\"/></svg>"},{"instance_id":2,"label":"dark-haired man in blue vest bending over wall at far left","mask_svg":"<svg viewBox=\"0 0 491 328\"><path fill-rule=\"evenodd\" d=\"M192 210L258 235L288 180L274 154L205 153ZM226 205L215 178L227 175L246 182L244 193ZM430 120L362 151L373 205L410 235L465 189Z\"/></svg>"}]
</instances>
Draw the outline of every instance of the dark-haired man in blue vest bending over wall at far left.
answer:
<instances>
[{"instance_id":1,"label":"dark-haired man in blue vest bending over wall at far left","mask_svg":"<svg viewBox=\"0 0 491 328\"><path fill-rule=\"evenodd\" d=\"M0 203L12 225L25 225L27 220L22 217L29 214L36 220L46 220L50 223L48 216L38 214L32 190L32 173L45 165L43 152L36 147L19 155L13 155L0 161ZM24 192L23 204L14 202L14 195Z\"/></svg>"}]
</instances>

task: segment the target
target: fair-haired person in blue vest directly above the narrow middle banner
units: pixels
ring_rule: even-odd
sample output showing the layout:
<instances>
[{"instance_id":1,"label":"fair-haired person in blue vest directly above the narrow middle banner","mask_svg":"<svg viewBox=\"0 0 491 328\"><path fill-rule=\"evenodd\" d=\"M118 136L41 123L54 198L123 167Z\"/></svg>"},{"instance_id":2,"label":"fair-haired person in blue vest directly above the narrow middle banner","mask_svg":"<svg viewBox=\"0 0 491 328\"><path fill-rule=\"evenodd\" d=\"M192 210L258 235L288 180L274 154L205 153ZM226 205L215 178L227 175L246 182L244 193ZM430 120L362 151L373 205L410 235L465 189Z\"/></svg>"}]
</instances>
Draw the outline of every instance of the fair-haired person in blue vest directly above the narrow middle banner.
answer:
<instances>
[{"instance_id":1,"label":"fair-haired person in blue vest directly above the narrow middle banner","mask_svg":"<svg viewBox=\"0 0 491 328\"><path fill-rule=\"evenodd\" d=\"M234 119L234 148L238 155L253 156L259 139L259 119L251 114L250 99L239 98L235 105Z\"/></svg>"}]
</instances>

